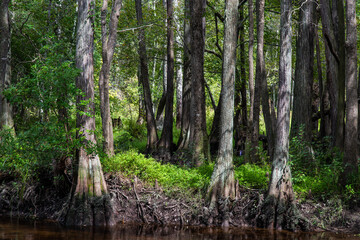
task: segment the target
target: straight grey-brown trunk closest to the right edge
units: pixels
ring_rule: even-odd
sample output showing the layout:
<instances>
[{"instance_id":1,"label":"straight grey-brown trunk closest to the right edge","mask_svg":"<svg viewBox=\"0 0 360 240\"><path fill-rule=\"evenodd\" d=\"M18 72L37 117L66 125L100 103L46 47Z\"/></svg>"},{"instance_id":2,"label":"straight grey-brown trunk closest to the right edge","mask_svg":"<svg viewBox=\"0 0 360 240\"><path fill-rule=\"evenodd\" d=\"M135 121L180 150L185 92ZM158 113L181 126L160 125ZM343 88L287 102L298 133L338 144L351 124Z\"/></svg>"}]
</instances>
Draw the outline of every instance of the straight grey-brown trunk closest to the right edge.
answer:
<instances>
[{"instance_id":1,"label":"straight grey-brown trunk closest to the right edge","mask_svg":"<svg viewBox=\"0 0 360 240\"><path fill-rule=\"evenodd\" d=\"M356 1L346 1L346 125L343 185L358 173L358 95L357 95Z\"/></svg>"}]
</instances>

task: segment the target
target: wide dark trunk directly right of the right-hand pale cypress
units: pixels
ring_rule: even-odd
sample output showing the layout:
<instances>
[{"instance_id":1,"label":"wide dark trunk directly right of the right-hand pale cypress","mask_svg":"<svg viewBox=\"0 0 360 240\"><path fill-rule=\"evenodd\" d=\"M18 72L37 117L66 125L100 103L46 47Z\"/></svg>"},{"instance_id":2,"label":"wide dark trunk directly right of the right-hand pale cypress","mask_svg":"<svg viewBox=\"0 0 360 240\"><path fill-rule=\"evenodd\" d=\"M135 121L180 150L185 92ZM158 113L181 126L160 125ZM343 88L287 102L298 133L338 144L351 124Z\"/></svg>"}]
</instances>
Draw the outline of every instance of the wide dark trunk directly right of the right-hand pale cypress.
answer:
<instances>
[{"instance_id":1,"label":"wide dark trunk directly right of the right-hand pale cypress","mask_svg":"<svg viewBox=\"0 0 360 240\"><path fill-rule=\"evenodd\" d=\"M294 104L291 121L291 136L303 131L303 140L311 142L312 94L314 63L314 11L315 2L300 1L299 30L296 42L296 66L294 81Z\"/></svg>"}]
</instances>

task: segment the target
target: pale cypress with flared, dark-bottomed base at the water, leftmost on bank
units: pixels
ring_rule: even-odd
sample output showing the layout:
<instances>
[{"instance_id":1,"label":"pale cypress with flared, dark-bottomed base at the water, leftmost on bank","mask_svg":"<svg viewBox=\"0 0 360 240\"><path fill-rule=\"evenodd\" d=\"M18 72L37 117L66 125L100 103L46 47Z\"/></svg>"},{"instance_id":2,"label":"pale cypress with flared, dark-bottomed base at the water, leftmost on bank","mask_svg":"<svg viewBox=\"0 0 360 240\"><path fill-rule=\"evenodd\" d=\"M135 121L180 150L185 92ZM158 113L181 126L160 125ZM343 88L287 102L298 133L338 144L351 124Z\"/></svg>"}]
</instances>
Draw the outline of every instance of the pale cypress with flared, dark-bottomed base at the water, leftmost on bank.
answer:
<instances>
[{"instance_id":1,"label":"pale cypress with flared, dark-bottomed base at the water, leftmost on bank","mask_svg":"<svg viewBox=\"0 0 360 240\"><path fill-rule=\"evenodd\" d=\"M78 28L76 43L76 67L82 72L76 86L83 94L77 98L78 138L82 145L77 151L77 174L72 189L70 206L65 218L66 225L104 226L113 225L110 196L101 169L99 156L89 149L96 145L94 106L94 30L93 0L78 1Z\"/></svg>"}]
</instances>

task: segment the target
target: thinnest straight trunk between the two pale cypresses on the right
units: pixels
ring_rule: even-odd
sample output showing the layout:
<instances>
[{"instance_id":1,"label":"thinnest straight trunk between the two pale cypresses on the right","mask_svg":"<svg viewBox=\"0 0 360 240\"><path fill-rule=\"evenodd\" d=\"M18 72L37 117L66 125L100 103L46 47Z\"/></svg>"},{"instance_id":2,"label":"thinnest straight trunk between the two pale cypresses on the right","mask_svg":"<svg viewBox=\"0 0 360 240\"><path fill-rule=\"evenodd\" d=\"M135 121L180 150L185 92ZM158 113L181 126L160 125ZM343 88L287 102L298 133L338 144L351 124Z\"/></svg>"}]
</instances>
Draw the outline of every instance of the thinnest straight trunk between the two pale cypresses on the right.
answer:
<instances>
[{"instance_id":1,"label":"thinnest straight trunk between the two pale cypresses on the right","mask_svg":"<svg viewBox=\"0 0 360 240\"><path fill-rule=\"evenodd\" d=\"M249 5L249 92L250 92L250 113L249 113L249 127L246 137L245 146L245 161L252 161L253 152L253 136L254 132L254 101L255 101L255 88L254 88L254 16L253 16L253 0L248 0Z\"/></svg>"}]
</instances>

